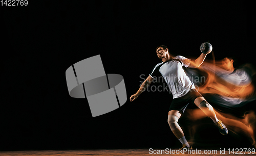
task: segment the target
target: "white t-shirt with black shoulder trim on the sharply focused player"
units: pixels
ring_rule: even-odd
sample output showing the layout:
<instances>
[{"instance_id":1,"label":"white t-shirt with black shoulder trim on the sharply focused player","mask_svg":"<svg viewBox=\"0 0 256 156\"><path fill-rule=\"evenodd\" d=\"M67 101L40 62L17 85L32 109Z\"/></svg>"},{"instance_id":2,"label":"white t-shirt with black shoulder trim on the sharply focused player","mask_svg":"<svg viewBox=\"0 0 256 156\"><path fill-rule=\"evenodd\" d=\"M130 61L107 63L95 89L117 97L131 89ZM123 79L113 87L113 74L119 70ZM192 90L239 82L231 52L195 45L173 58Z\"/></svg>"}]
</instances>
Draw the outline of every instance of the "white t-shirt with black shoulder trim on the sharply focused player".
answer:
<instances>
[{"instance_id":1,"label":"white t-shirt with black shoulder trim on the sharply focused player","mask_svg":"<svg viewBox=\"0 0 256 156\"><path fill-rule=\"evenodd\" d=\"M152 70L150 76L156 79L163 76L173 98L184 96L190 89L195 89L194 84L189 80L182 66L187 67L189 59L183 56L176 56L172 60L158 63Z\"/></svg>"}]
</instances>

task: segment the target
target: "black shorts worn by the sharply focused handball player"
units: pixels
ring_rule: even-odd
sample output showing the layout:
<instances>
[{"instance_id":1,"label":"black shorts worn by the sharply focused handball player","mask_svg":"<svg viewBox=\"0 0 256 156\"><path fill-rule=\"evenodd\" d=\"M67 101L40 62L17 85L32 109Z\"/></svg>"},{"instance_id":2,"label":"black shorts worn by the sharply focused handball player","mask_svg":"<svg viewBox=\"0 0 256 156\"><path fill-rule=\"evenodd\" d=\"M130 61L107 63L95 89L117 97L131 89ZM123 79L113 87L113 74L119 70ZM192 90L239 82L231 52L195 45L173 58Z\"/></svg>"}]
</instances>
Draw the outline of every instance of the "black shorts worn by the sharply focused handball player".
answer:
<instances>
[{"instance_id":1,"label":"black shorts worn by the sharply focused handball player","mask_svg":"<svg viewBox=\"0 0 256 156\"><path fill-rule=\"evenodd\" d=\"M196 89L191 89L186 95L174 98L170 103L169 111L177 110L184 113L188 105L195 105L194 101L197 97L203 97Z\"/></svg>"}]
</instances>

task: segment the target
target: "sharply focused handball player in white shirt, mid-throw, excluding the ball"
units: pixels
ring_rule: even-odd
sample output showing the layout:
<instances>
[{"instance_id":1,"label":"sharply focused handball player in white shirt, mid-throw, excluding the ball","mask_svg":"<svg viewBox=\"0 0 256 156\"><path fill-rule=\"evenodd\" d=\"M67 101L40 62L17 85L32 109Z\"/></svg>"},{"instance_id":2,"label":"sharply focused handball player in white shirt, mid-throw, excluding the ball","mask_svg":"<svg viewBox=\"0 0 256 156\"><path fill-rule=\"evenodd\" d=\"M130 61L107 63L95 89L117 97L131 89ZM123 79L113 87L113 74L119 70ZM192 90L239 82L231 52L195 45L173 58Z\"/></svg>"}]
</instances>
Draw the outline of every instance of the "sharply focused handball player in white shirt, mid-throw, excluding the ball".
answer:
<instances>
[{"instance_id":1,"label":"sharply focused handball player in white shirt, mid-throw, excluding the ball","mask_svg":"<svg viewBox=\"0 0 256 156\"><path fill-rule=\"evenodd\" d=\"M168 123L174 135L182 143L183 146L181 149L192 149L178 124L179 118L189 104L193 105L193 103L195 103L198 108L200 108L212 119L212 121L214 121L216 126L219 128L220 133L222 135L226 135L228 133L226 126L216 117L214 109L196 90L194 84L189 80L189 77L182 68L182 66L190 68L199 67L203 63L207 54L202 53L200 57L194 61L182 56L174 57L169 54L168 48L165 45L158 46L156 53L162 62L158 63L153 68L151 74L143 82L137 93L130 97L130 101L134 101L139 94L141 94L151 84L153 79L156 79L156 76L163 76L174 98L169 107Z\"/></svg>"}]
</instances>

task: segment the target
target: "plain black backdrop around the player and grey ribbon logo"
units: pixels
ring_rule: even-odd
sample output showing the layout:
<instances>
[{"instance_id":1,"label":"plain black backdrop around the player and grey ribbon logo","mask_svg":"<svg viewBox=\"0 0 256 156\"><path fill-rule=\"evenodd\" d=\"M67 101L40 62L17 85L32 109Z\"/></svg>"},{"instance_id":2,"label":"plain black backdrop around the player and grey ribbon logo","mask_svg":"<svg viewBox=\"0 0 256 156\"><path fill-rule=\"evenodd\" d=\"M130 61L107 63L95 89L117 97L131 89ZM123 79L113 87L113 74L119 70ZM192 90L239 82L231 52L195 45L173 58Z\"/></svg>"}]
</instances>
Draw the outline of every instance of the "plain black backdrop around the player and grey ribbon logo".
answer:
<instances>
[{"instance_id":1,"label":"plain black backdrop around the player and grey ribbon logo","mask_svg":"<svg viewBox=\"0 0 256 156\"><path fill-rule=\"evenodd\" d=\"M255 16L246 1L28 0L0 9L0 150L180 147L167 123L168 92L129 101L140 75L146 78L161 61L156 46L197 58L200 45L210 42L216 59L254 63ZM96 55L106 73L124 77L127 101L92 118L86 99L69 96L65 72ZM249 145L243 136L205 127L197 133L201 147Z\"/></svg>"}]
</instances>

